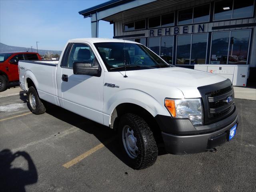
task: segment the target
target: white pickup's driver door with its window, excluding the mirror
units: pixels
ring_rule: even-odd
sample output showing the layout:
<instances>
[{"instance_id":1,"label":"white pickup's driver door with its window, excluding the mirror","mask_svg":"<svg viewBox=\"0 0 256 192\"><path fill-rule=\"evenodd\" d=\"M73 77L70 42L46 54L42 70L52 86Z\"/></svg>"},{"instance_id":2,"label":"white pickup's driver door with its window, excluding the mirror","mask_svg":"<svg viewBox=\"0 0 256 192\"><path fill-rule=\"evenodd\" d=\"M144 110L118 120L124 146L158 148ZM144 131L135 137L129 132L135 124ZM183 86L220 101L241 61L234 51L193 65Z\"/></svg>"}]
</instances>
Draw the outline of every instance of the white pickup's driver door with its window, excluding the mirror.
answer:
<instances>
[{"instance_id":1,"label":"white pickup's driver door with its window, excluding the mirror","mask_svg":"<svg viewBox=\"0 0 256 192\"><path fill-rule=\"evenodd\" d=\"M71 43L68 47L71 47L69 54L66 54L66 59L62 58L58 69L61 75L57 75L60 106L103 124L104 72L101 71L100 76L74 74L74 62L90 63L92 66L99 63L88 44Z\"/></svg>"}]
</instances>

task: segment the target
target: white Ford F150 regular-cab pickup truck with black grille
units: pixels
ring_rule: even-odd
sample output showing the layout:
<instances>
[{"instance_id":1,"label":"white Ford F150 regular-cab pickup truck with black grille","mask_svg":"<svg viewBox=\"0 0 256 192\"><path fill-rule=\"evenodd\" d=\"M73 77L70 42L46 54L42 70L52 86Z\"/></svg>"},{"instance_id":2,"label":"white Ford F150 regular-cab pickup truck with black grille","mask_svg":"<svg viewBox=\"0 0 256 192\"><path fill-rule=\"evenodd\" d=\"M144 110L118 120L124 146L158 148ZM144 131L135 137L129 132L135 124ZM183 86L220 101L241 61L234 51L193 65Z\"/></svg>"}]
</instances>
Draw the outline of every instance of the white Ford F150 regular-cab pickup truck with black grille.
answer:
<instances>
[{"instance_id":1,"label":"white Ford F150 regular-cab pickup truck with black grille","mask_svg":"<svg viewBox=\"0 0 256 192\"><path fill-rule=\"evenodd\" d=\"M32 113L44 113L46 101L118 130L134 169L154 164L158 143L191 154L236 134L230 80L169 65L136 42L73 39L59 61L19 61L18 68Z\"/></svg>"}]
</instances>

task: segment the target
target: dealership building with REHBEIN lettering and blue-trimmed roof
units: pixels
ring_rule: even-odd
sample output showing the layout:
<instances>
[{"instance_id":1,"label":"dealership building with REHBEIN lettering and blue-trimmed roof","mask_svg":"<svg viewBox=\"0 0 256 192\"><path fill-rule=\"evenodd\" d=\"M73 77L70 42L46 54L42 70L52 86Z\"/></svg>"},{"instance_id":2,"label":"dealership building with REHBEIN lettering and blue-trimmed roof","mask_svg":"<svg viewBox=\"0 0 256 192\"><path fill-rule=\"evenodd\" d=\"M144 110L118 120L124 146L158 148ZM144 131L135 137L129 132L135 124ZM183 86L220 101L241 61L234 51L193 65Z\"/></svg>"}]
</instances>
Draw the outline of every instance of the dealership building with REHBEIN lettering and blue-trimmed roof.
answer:
<instances>
[{"instance_id":1,"label":"dealership building with REHBEIN lettering and blue-trimmed roof","mask_svg":"<svg viewBox=\"0 0 256 192\"><path fill-rule=\"evenodd\" d=\"M110 0L79 12L114 24L113 38L144 44L166 62L246 65L256 75L255 0Z\"/></svg>"}]
</instances>

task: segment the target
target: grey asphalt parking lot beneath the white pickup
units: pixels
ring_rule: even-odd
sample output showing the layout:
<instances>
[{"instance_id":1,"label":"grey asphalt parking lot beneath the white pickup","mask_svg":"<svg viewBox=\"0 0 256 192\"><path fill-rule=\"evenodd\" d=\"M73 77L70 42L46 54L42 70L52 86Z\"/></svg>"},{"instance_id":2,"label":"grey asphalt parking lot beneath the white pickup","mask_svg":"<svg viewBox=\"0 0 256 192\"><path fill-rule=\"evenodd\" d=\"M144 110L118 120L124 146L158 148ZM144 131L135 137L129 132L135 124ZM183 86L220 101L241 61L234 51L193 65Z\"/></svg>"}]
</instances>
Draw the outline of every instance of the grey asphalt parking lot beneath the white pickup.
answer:
<instances>
[{"instance_id":1,"label":"grey asphalt parking lot beneath the white pickup","mask_svg":"<svg viewBox=\"0 0 256 192\"><path fill-rule=\"evenodd\" d=\"M256 101L236 99L235 138L217 152L161 152L128 167L115 132L59 107L31 114L26 94L0 98L2 191L256 191Z\"/></svg>"}]
</instances>

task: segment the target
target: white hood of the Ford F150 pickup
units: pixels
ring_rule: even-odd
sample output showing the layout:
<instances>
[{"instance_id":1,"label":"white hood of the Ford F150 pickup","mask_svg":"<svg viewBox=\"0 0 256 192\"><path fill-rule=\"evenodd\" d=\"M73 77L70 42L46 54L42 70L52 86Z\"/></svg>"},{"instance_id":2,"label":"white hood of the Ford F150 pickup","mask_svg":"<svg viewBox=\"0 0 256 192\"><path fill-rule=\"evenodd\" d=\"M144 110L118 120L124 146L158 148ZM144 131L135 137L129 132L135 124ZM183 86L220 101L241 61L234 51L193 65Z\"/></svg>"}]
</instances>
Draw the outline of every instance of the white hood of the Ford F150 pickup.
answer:
<instances>
[{"instance_id":1,"label":"white hood of the Ford F150 pickup","mask_svg":"<svg viewBox=\"0 0 256 192\"><path fill-rule=\"evenodd\" d=\"M122 72L123 73L123 72ZM175 87L182 91L184 98L201 97L198 87L226 80L225 77L198 70L170 67L126 72L128 78L149 82L151 86Z\"/></svg>"}]
</instances>

